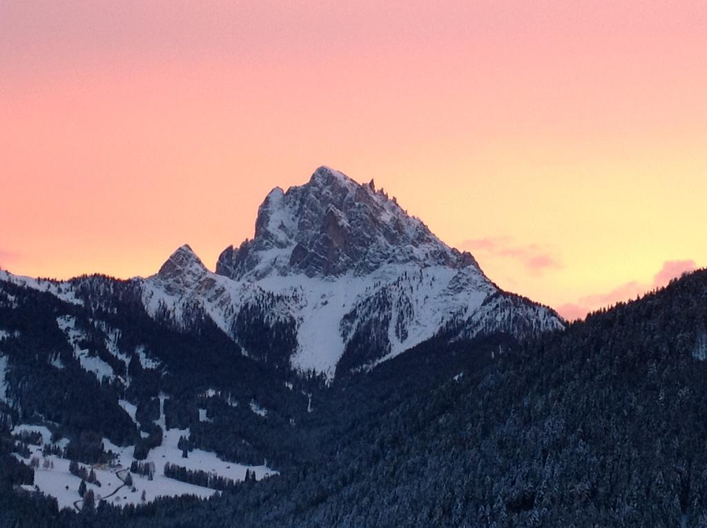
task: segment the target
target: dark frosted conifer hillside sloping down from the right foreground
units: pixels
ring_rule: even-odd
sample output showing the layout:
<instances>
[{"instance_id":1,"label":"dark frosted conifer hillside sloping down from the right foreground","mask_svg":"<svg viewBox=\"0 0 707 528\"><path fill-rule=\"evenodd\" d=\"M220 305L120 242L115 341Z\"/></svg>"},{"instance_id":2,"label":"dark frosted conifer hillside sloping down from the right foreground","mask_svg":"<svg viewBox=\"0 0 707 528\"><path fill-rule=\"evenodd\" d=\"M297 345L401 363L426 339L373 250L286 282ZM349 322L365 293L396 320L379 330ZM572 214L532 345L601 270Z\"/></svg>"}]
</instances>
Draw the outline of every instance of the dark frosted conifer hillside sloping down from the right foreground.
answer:
<instances>
[{"instance_id":1,"label":"dark frosted conifer hillside sloping down from the right foreground","mask_svg":"<svg viewBox=\"0 0 707 528\"><path fill-rule=\"evenodd\" d=\"M518 348L431 343L328 389L317 455L291 471L61 523L707 526L706 328L699 271ZM4 522L59 525L3 493Z\"/></svg>"}]
</instances>

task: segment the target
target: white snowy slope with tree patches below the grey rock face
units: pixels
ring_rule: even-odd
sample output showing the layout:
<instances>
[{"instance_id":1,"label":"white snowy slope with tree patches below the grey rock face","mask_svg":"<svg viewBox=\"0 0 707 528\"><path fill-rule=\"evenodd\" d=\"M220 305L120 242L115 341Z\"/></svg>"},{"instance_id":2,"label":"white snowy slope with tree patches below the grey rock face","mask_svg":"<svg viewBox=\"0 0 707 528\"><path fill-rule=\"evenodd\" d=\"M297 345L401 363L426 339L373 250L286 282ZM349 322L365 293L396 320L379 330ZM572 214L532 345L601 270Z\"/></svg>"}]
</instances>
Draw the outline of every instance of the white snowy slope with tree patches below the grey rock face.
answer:
<instances>
[{"instance_id":1,"label":"white snowy slope with tree patches below the grey rock face","mask_svg":"<svg viewBox=\"0 0 707 528\"><path fill-rule=\"evenodd\" d=\"M185 248L177 252L185 252ZM187 275L196 276L193 270ZM460 283L468 287L460 288ZM233 331L238 312L243 307L269 303L269 319L291 321L296 328L293 367L327 376L334 375L346 345L366 322L389 321L385 334L392 357L431 339L450 319L470 317L488 295L497 291L475 269L423 268L418 264L389 264L364 276L272 274L258 281L233 281L204 268L197 280L184 281L176 288L175 284L160 274L145 282L148 312L156 316L161 308L177 322L188 324L185 314L198 305L238 341L238 333ZM377 302L380 298L385 302ZM556 319L549 318L548 326L554 327L554 322Z\"/></svg>"}]
</instances>

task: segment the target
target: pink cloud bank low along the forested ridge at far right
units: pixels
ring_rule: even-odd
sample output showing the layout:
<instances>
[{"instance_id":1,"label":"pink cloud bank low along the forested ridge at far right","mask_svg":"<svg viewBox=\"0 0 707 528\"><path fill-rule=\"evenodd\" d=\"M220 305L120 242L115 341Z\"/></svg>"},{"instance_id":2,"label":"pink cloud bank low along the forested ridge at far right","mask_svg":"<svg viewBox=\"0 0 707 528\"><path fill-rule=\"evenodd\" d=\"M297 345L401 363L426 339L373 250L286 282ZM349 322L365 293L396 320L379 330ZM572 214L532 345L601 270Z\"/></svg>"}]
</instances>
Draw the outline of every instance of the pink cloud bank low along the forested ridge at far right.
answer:
<instances>
[{"instance_id":1,"label":"pink cloud bank low along the forested ridge at far right","mask_svg":"<svg viewBox=\"0 0 707 528\"><path fill-rule=\"evenodd\" d=\"M683 274L697 269L694 260L667 260L663 262L662 268L653 276L652 283L641 283L630 281L620 284L608 293L596 293L585 295L577 303L566 303L556 308L557 312L567 319L583 319L589 312L600 308L612 306L619 302L635 299L639 295L667 286L673 278L678 278Z\"/></svg>"}]
</instances>

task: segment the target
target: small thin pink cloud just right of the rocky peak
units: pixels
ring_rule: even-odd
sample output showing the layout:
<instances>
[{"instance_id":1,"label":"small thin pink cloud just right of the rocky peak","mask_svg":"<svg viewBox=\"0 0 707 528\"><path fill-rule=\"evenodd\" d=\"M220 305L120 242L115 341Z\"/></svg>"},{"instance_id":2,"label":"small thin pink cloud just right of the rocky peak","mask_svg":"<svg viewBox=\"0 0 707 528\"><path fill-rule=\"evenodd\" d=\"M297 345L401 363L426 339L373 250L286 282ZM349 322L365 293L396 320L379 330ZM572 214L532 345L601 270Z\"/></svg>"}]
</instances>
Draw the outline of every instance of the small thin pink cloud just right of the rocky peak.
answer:
<instances>
[{"instance_id":1,"label":"small thin pink cloud just right of the rocky peak","mask_svg":"<svg viewBox=\"0 0 707 528\"><path fill-rule=\"evenodd\" d=\"M494 257L513 259L530 271L539 275L547 269L560 269L560 260L551 252L537 244L516 244L511 237L484 237L464 240L463 250L481 252Z\"/></svg>"}]
</instances>

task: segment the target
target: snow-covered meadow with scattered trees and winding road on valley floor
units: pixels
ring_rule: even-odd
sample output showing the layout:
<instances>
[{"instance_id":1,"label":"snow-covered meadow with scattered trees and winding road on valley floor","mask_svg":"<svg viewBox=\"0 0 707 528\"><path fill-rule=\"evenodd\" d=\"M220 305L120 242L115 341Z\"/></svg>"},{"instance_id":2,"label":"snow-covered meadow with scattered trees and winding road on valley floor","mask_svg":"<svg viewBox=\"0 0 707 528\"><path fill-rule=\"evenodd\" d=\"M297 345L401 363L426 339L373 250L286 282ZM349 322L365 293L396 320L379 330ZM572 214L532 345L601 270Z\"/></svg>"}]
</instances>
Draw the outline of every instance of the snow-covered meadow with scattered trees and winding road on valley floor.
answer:
<instances>
[{"instance_id":1,"label":"snow-covered meadow with scattered trees and winding road on valley floor","mask_svg":"<svg viewBox=\"0 0 707 528\"><path fill-rule=\"evenodd\" d=\"M160 401L163 407L163 401ZM126 411L132 414L132 404L127 401L121 401L121 405ZM86 483L87 488L93 490L96 499L107 500L113 505L125 504L141 504L143 503L143 493L145 502L150 502L158 497L178 496L178 495L196 495L200 498L206 498L217 491L211 488L195 486L175 479L170 479L164 475L164 467L166 463L175 464L191 470L206 471L216 474L226 479L233 481L243 481L245 479L245 471L250 471L255 474L257 480L267 476L277 474L277 471L270 469L266 465L261 466L246 466L235 462L226 462L218 458L218 456L209 451L192 450L188 453L188 458L182 458L182 450L177 447L180 438L189 437L188 429L170 429L165 430L164 414L156 422L163 428L162 445L154 448L148 454L147 459L140 462L153 462L155 465L155 474L150 480L146 476L132 474L133 485L123 486L127 472L132 464L134 446L119 447L110 442L103 440L103 449L106 452L112 451L115 454L115 461L110 466L97 465L89 467L86 464L80 464L81 467L93 469L101 486ZM46 427L42 426L16 426L13 433L21 433L23 431L38 432L42 435L42 442L51 445L51 432ZM59 447L65 447L66 440L61 440ZM21 462L30 464L33 458L39 461L39 467L35 469L35 486L42 493L51 495L57 498L59 508L81 508L81 497L78 495L78 486L81 479L69 472L69 460L63 459L54 455L47 457L42 456L42 446L30 445L30 457L23 459L16 455ZM47 463L45 464L45 460ZM121 487L122 486L122 487ZM27 489L34 489L33 486L25 486ZM117 488L119 491L115 494ZM134 488L134 491L133 491ZM112 494L112 495L111 495ZM110 496L108 496L110 495ZM105 498L104 498L105 497Z\"/></svg>"}]
</instances>

